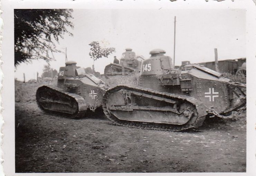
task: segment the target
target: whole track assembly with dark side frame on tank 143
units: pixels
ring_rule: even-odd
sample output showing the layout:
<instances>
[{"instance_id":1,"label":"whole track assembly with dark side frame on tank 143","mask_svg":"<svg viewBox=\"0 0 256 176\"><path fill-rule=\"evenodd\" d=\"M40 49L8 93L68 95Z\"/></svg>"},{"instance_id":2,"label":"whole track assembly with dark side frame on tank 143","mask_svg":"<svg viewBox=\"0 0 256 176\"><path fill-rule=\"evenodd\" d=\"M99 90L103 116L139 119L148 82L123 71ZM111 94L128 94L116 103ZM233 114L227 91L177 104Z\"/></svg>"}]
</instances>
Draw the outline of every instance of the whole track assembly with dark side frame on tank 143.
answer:
<instances>
[{"instance_id":1,"label":"whole track assembly with dark side frame on tank 143","mask_svg":"<svg viewBox=\"0 0 256 176\"><path fill-rule=\"evenodd\" d=\"M38 107L47 114L67 118L82 118L87 110L82 96L70 93L57 86L42 86L37 89Z\"/></svg>"}]
</instances>

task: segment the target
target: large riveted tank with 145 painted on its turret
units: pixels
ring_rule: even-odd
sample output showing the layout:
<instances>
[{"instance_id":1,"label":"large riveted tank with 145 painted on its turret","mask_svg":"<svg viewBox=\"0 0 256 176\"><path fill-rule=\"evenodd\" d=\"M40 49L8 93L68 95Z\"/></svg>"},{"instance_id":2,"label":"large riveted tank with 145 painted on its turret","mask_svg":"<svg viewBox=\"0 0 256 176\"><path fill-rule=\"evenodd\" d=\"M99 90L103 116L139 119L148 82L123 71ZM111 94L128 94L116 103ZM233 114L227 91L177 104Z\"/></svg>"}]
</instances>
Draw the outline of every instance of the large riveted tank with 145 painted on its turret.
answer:
<instances>
[{"instance_id":1,"label":"large riveted tank with 145 painted on its turret","mask_svg":"<svg viewBox=\"0 0 256 176\"><path fill-rule=\"evenodd\" d=\"M106 91L108 119L122 126L180 131L201 126L207 116L230 118L232 111L245 109L246 85L201 65L175 69L164 53L152 50L142 62L138 86Z\"/></svg>"}]
</instances>

